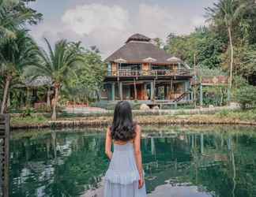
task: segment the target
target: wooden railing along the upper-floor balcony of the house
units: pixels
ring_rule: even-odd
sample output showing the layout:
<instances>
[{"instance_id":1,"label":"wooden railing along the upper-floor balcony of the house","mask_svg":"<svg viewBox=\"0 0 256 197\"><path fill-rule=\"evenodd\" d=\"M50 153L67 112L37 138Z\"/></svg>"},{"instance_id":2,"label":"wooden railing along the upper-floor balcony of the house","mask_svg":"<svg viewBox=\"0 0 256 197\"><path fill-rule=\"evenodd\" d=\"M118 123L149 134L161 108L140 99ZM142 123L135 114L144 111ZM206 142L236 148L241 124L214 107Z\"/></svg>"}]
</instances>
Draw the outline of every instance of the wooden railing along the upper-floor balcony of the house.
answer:
<instances>
[{"instance_id":1,"label":"wooden railing along the upper-floor balcony of the house","mask_svg":"<svg viewBox=\"0 0 256 197\"><path fill-rule=\"evenodd\" d=\"M130 70L119 69L108 71L108 76L191 76L190 69L157 69L157 70Z\"/></svg>"}]
</instances>

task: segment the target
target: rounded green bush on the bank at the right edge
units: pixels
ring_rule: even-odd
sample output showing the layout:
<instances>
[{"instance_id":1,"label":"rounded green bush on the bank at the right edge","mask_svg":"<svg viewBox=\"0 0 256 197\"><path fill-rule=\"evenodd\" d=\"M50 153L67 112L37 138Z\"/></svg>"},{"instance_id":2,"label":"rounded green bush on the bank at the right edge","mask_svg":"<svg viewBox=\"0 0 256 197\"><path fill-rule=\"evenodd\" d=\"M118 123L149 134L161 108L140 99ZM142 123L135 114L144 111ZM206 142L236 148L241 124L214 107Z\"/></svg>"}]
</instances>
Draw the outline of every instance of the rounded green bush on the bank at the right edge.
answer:
<instances>
[{"instance_id":1,"label":"rounded green bush on the bank at the right edge","mask_svg":"<svg viewBox=\"0 0 256 197\"><path fill-rule=\"evenodd\" d=\"M235 100L239 102L242 109L252 108L256 104L256 87L246 85L235 91Z\"/></svg>"}]
</instances>

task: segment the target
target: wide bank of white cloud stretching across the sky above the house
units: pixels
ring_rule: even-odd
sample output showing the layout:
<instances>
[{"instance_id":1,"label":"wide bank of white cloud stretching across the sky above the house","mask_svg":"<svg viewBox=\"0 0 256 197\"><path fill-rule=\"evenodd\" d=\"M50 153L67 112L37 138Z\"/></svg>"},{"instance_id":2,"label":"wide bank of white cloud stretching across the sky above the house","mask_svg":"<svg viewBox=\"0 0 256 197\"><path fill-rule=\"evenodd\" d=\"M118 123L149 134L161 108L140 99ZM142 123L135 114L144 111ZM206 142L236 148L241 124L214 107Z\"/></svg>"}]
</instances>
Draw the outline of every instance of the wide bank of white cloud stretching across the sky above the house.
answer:
<instances>
[{"instance_id":1,"label":"wide bank of white cloud stretching across the sky above the house","mask_svg":"<svg viewBox=\"0 0 256 197\"><path fill-rule=\"evenodd\" d=\"M51 43L58 39L81 40L85 46L96 45L103 57L117 50L134 33L165 39L170 32L187 34L204 18L190 13L191 9L141 3L134 9L102 3L82 4L66 9L61 18L44 21L32 29L36 40L47 37ZM190 17L193 16L193 17Z\"/></svg>"}]
</instances>

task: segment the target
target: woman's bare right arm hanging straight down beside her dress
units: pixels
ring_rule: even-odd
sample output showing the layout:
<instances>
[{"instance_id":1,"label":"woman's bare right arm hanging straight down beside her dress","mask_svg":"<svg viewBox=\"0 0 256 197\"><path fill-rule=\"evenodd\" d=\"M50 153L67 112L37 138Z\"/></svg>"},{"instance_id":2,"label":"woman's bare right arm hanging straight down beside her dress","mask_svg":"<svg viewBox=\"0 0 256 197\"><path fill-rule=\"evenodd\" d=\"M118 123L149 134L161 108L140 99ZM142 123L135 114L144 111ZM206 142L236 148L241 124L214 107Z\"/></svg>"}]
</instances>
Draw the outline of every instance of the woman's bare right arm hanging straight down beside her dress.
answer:
<instances>
[{"instance_id":1,"label":"woman's bare right arm hanging straight down beside her dress","mask_svg":"<svg viewBox=\"0 0 256 197\"><path fill-rule=\"evenodd\" d=\"M134 151L135 151L135 159L137 163L137 170L140 174L139 188L143 186L143 168L142 168L142 158L141 158L141 127L139 125L136 126L136 136L134 139Z\"/></svg>"}]
</instances>

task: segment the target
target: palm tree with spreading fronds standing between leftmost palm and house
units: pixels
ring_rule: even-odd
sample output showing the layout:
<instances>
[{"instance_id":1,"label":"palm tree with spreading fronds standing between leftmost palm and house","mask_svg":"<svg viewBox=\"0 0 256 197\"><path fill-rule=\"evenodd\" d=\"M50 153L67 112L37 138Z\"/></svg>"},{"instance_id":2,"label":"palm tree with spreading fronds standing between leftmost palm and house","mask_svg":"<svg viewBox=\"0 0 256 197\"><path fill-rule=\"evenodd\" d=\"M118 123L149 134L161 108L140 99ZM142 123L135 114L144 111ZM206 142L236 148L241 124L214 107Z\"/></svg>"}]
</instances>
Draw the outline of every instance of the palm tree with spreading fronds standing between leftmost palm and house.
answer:
<instances>
[{"instance_id":1,"label":"palm tree with spreading fronds standing between leftmost palm and house","mask_svg":"<svg viewBox=\"0 0 256 197\"><path fill-rule=\"evenodd\" d=\"M40 62L32 65L32 70L35 73L40 73L37 74L38 76L50 77L54 84L55 102L53 103L51 119L56 120L56 107L58 106L60 88L70 75L75 75L74 67L78 62L83 61L83 58L77 47L73 47L66 40L60 40L55 43L55 49L52 49L47 39L45 41L47 43L48 53L43 48L38 50Z\"/></svg>"}]
</instances>

